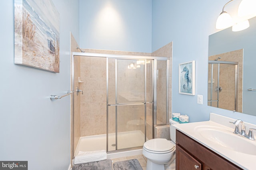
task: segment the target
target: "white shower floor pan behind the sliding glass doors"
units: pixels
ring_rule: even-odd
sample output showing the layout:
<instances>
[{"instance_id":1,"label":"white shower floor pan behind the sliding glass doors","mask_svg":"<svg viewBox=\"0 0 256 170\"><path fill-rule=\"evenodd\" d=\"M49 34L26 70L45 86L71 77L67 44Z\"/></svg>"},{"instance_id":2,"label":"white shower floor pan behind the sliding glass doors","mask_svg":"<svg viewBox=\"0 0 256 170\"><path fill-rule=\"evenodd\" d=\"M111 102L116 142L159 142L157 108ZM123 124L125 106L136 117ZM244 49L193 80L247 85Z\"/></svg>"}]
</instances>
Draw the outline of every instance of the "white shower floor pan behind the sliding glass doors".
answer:
<instances>
[{"instance_id":1,"label":"white shower floor pan behind the sliding glass doors","mask_svg":"<svg viewBox=\"0 0 256 170\"><path fill-rule=\"evenodd\" d=\"M118 133L118 149L125 149L131 147L141 147L144 144L144 133L141 131L128 131ZM116 150L116 134L111 133L108 135L108 150ZM93 135L80 137L76 152L79 151L93 151L93 150L106 150L106 134Z\"/></svg>"}]
</instances>

